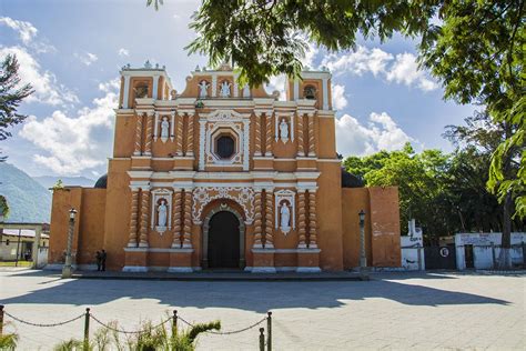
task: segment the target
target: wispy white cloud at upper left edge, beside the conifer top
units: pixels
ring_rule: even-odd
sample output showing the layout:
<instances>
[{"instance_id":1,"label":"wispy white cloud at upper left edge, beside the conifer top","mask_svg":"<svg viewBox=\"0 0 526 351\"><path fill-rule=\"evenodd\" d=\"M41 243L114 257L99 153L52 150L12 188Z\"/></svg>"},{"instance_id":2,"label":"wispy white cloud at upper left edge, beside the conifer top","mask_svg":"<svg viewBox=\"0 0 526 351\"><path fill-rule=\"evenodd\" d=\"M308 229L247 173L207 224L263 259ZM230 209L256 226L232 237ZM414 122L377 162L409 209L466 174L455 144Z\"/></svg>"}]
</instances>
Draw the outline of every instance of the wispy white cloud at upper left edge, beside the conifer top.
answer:
<instances>
[{"instance_id":1,"label":"wispy white cloud at upper left edge, beside the conifer top","mask_svg":"<svg viewBox=\"0 0 526 351\"><path fill-rule=\"evenodd\" d=\"M6 57L7 54L17 56L20 64L21 83L31 83L34 89L34 93L24 101L37 101L52 106L79 102L77 96L64 86L58 83L57 77L52 72L43 71L39 62L26 49L20 47L0 47L0 57Z\"/></svg>"}]
</instances>

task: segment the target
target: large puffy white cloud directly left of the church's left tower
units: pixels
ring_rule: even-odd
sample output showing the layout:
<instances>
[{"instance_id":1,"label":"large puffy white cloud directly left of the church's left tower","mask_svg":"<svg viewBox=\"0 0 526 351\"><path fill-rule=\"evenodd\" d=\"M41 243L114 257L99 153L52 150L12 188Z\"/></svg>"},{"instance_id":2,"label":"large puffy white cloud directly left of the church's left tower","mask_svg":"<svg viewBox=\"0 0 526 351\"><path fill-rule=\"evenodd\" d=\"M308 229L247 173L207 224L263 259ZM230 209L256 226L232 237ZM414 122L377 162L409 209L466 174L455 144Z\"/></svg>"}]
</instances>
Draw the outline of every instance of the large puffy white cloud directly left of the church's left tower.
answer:
<instances>
[{"instance_id":1,"label":"large puffy white cloud directly left of the church's left tower","mask_svg":"<svg viewBox=\"0 0 526 351\"><path fill-rule=\"evenodd\" d=\"M45 151L33 156L37 163L62 176L77 176L104 163L109 150L95 139L101 133L98 129L107 133L111 129L118 94L114 80L99 88L105 96L80 109L77 117L57 110L41 121L34 116L28 118L19 134Z\"/></svg>"}]
</instances>

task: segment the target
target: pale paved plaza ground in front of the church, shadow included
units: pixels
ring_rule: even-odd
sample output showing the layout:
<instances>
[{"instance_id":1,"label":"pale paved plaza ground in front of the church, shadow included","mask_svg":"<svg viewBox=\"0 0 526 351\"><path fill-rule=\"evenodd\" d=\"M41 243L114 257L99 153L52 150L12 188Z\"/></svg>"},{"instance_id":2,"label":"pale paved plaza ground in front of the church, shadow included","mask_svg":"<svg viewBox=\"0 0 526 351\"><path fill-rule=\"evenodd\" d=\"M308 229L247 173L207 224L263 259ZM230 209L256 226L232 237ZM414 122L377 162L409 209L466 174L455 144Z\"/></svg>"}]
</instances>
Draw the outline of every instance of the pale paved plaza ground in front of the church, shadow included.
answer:
<instances>
[{"instance_id":1,"label":"pale paved plaza ground in front of the church, shadow included","mask_svg":"<svg viewBox=\"0 0 526 351\"><path fill-rule=\"evenodd\" d=\"M273 311L274 350L522 349L526 345L522 274L383 273L373 281L178 282L60 280L49 272L0 269L0 301L16 317L53 322L87 307L131 329L178 309L189 321L221 319L223 330ZM6 318L10 320L10 318ZM83 321L55 328L14 322L20 350L49 350ZM93 330L94 328L92 328ZM199 338L199 350L257 350L257 330Z\"/></svg>"}]
</instances>

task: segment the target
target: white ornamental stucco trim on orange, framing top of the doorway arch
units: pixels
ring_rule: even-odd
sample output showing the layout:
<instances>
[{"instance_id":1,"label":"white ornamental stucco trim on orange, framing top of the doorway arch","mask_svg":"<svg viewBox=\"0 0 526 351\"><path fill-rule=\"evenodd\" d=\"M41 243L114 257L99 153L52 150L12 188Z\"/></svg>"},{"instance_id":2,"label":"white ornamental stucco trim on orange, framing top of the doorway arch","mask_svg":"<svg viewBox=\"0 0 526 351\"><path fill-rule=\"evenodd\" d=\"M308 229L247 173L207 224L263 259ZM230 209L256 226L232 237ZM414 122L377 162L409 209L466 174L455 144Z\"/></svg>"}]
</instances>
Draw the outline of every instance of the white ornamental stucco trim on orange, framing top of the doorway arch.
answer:
<instances>
[{"instance_id":1,"label":"white ornamental stucco trim on orange, framing top of the doorway arch","mask_svg":"<svg viewBox=\"0 0 526 351\"><path fill-rule=\"evenodd\" d=\"M201 214L206 204L216 199L235 201L245 212L245 224L254 221L254 189L249 187L196 187L192 191L192 221L201 224Z\"/></svg>"}]
</instances>

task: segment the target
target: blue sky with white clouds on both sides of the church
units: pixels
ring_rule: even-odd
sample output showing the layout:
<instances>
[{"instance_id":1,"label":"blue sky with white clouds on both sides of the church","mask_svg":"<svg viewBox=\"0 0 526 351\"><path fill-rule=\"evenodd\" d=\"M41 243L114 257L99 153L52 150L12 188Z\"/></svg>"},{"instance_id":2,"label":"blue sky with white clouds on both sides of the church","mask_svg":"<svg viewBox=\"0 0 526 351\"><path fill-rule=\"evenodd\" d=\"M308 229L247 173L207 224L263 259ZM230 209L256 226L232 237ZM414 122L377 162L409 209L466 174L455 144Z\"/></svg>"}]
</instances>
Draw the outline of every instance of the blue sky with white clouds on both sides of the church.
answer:
<instances>
[{"instance_id":1,"label":"blue sky with white clouds on both sides of the church","mask_svg":"<svg viewBox=\"0 0 526 351\"><path fill-rule=\"evenodd\" d=\"M8 162L31 176L105 172L120 67L146 59L165 64L181 91L190 71L206 64L184 50L195 38L188 26L199 1L164 2L155 12L145 0L0 0L0 57L16 53L22 78L37 90L20 108L31 117L0 144ZM444 127L463 123L474 108L444 102L415 56L415 42L399 37L337 54L311 48L305 64L333 72L340 153L393 150L405 141L452 150ZM272 79L269 91L282 83Z\"/></svg>"}]
</instances>

